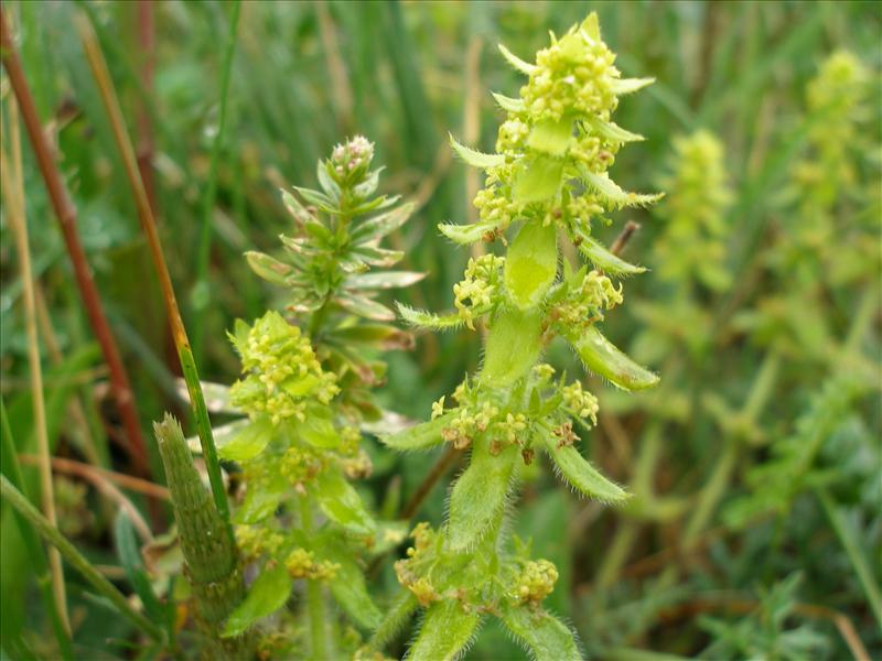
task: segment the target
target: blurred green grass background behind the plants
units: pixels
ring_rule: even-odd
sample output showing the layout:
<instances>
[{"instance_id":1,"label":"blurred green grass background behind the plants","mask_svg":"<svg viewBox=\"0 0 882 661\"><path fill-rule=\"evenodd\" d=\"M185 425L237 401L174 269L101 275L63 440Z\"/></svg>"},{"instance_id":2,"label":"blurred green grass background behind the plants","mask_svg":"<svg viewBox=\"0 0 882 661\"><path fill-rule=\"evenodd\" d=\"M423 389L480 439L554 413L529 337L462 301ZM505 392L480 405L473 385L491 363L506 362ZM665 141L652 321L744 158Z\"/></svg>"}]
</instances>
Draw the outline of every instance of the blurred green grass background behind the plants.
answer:
<instances>
[{"instance_id":1,"label":"blurred green grass background behind the plants","mask_svg":"<svg viewBox=\"0 0 882 661\"><path fill-rule=\"evenodd\" d=\"M663 389L659 394L625 399L609 384L590 380L606 415L585 452L607 474L630 483L649 445L646 436L654 435L657 460L647 460L654 467L653 489L657 502L673 499L674 514L611 510L580 501L553 480L537 476L525 487L518 534L533 538L534 555L558 564L561 579L550 605L577 627L585 649L602 658L649 658L635 657L636 648L708 658L854 655L837 617L878 658L880 622L868 596L869 581L876 585L879 598L882 530L878 473L882 469L878 463L882 9L878 3L244 2L216 167L212 150L220 116L229 3L4 3L4 11L15 15L23 65L79 210L79 234L125 354L146 430L162 411L185 415L186 407L176 394L176 357L159 288L97 89L72 28L74 13L87 12L98 31L132 137L149 164L166 259L201 354L201 375L229 382L238 361L226 329L236 317L251 318L283 304L279 292L249 271L241 254L254 248L275 250L276 237L289 221L278 188L314 185L316 160L346 136L361 132L375 141L376 162L387 167L384 189L420 204L417 218L395 241L406 250L407 268L429 275L406 291L404 301L434 311L450 307L451 288L467 254L443 240L435 225L474 217L470 201L480 181L451 158L447 132L493 151L502 113L490 90L516 96L521 84L496 44L503 42L529 58L547 43L548 30L561 33L590 10L599 12L604 39L619 54L624 75L657 79L647 91L624 99L616 112L620 126L647 138L623 150L613 169L616 181L628 189L657 189L671 170L677 136L708 129L724 145L734 198L725 214L729 232L720 261L731 285L693 301L713 321L693 325L687 318L680 323L670 318L676 310L666 307L666 301L676 296L654 272L627 281L625 305L609 315L606 328L620 346L650 358L652 367L662 371ZM852 185L862 187L859 203L869 212L857 210L864 208L858 203L837 206L824 252L833 261L857 259L846 243L850 235L862 232L870 257L867 250L860 252L867 263L861 262L858 278L846 279L841 286L833 282L820 296L807 296L806 288L794 286L790 275L796 278L814 256L807 248L810 243L788 241L789 232L798 231L794 209L799 205L787 193L795 169L811 148L805 123L806 87L821 63L843 48L872 76L865 116L852 136L856 144L847 145L848 153L860 152L854 155L858 175ZM6 105L10 96L6 78L2 95ZM28 145L24 160L32 261L45 311L42 342L50 437L58 456L125 473L130 466L116 441L121 432L107 395L107 375ZM840 195L854 197L848 189ZM601 228L603 238L612 240L626 219L642 226L626 256L657 269L664 213L621 213L612 227ZM206 221L207 235L202 231ZM2 394L20 451L32 454L22 283L6 220L0 232ZM797 252L789 270L768 266L794 246ZM206 250L209 259L201 277L200 253ZM826 267L809 270L809 279L824 280L828 272ZM645 308L639 314L638 302L655 305L656 314ZM772 355L768 347L774 343L764 343L756 325L743 319L751 311L767 312L773 303L784 305L785 321L804 333L796 333L786 349L774 351L776 378L765 405L747 421L760 430L760 438L742 444L721 487L720 507L710 512L699 535L700 545L682 553L685 520L696 494L714 474L729 437L741 434L734 429L739 421L732 423L734 411L749 400ZM839 383L843 370L854 371L839 347L850 322L867 307L870 330L858 338L857 351L861 369L869 370L875 383L833 409L835 392L829 387L825 391L825 386ZM813 330L819 340L807 339ZM464 371L477 367L478 347L475 334L449 333L421 336L413 353L389 356L383 394L387 407L424 418L433 400L451 392ZM549 360L580 373L561 348L552 347ZM71 413L73 402L78 402L78 414ZM720 413L720 402L729 413ZM825 413L832 420L817 420ZM797 424L811 415L816 418ZM817 443L826 454L811 454L806 472L815 476L817 466L820 477L799 483L785 499L785 509L747 525L723 519L727 503L755 490L746 479L750 470L779 458L777 443L818 429L822 437ZM151 452L159 475L154 448ZM372 452L376 469L369 490L378 503L388 498L390 488L400 488L407 498L434 459L399 457L378 446ZM864 469L865 492L852 492L858 486L849 473L853 467L845 466L849 457L858 457ZM786 466L781 470L786 473ZM845 491L843 479L851 480ZM832 494L829 508L818 496L818 484L824 494ZM423 518L440 521L443 489L435 487ZM117 561L107 512L96 507L98 497L82 483L69 483L60 494L67 495L60 516L72 527L68 533L112 574ZM9 599L18 600L28 594L22 590L33 589L9 519L4 508L0 563L4 636L24 622L42 626L35 607L19 614L9 607ZM837 521L845 533L840 534ZM623 529L631 531L627 543L622 541ZM706 534L709 531L712 534ZM851 551L843 539L850 540ZM624 556L599 582L615 540L624 544ZM869 578L865 573L861 578L856 562L868 565ZM379 577L380 593L392 586L390 572ZM122 653L106 640L125 637L125 622L101 617L106 611L83 590L74 590L71 598L76 604L79 643L104 654ZM520 658L492 629L482 633L471 654Z\"/></svg>"}]
</instances>

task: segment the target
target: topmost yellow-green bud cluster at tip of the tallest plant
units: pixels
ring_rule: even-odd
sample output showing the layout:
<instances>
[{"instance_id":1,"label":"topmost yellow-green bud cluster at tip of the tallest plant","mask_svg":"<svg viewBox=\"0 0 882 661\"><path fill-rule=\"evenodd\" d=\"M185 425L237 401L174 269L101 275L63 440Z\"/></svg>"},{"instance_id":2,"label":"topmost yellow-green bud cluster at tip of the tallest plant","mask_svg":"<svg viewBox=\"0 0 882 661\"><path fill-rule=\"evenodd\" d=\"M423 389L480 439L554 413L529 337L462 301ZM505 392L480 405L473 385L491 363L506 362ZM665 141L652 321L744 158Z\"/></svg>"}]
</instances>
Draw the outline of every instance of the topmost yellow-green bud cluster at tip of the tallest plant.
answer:
<instances>
[{"instance_id":1,"label":"topmost yellow-green bud cluster at tip of the tallest plant","mask_svg":"<svg viewBox=\"0 0 882 661\"><path fill-rule=\"evenodd\" d=\"M617 98L613 80L615 54L600 39L598 18L592 14L536 55L536 68L520 90L527 111L535 120L559 121L564 113L607 118Z\"/></svg>"}]
</instances>

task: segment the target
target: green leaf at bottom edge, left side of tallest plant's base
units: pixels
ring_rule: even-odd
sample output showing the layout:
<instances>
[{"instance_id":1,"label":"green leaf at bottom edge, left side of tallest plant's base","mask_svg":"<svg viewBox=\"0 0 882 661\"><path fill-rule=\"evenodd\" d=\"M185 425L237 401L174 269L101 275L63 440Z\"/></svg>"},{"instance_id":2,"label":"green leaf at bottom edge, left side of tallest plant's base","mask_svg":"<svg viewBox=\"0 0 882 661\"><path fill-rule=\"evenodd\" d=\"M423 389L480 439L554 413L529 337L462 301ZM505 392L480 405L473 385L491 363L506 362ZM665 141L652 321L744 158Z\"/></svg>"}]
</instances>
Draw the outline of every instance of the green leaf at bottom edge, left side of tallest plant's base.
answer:
<instances>
[{"instance_id":1,"label":"green leaf at bottom edge, left side of tallest plant's base","mask_svg":"<svg viewBox=\"0 0 882 661\"><path fill-rule=\"evenodd\" d=\"M465 613L455 599L432 604L410 646L408 661L452 661L471 642L480 622L481 615Z\"/></svg>"}]
</instances>

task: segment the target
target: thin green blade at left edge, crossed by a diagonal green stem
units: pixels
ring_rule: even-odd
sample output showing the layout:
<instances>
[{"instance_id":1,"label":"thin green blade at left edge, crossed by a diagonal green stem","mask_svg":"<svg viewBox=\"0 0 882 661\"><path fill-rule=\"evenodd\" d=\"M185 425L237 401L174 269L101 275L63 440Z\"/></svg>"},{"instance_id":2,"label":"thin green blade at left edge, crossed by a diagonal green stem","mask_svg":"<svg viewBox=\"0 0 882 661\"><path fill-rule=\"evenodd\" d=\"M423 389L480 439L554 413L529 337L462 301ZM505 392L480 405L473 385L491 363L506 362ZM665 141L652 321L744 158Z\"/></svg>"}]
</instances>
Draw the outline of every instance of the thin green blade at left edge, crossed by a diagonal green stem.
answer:
<instances>
[{"instance_id":1,"label":"thin green blade at left edge, crossed by a diagonal green stem","mask_svg":"<svg viewBox=\"0 0 882 661\"><path fill-rule=\"evenodd\" d=\"M0 398L0 456L2 457L2 474L9 479L13 487L19 491L24 491L24 477L19 466L19 457L15 454L15 443L12 440L12 429L9 425L9 418L7 416L7 407ZM28 549L28 555L34 566L34 574L36 575L36 584L40 587L40 595L43 598L43 606L49 614L52 631L55 635L55 640L58 642L58 651L63 659L73 659L74 652L71 647L71 637L68 636L58 611L58 605L55 603L55 594L52 592L52 575L49 570L49 561L40 544L40 538L34 532L28 519L22 514L15 512L15 519L19 523L22 541Z\"/></svg>"}]
</instances>

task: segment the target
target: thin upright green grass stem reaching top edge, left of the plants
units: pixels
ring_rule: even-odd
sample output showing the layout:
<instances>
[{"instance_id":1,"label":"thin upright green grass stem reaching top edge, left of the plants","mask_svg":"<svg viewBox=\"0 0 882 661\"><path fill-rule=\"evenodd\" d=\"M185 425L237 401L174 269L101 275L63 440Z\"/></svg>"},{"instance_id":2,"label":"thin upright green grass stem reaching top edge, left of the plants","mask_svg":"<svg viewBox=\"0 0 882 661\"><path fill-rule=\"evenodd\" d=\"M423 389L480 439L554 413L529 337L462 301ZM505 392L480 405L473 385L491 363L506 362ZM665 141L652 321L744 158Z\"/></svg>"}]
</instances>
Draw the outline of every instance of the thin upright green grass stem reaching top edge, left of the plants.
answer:
<instances>
[{"instance_id":1,"label":"thin upright green grass stem reaching top edge, left of the plants","mask_svg":"<svg viewBox=\"0 0 882 661\"><path fill-rule=\"evenodd\" d=\"M229 36L224 52L224 63L220 73L220 109L217 120L217 133L212 143L212 163L208 170L208 183L205 188L205 198L202 205L202 227L200 231L198 252L196 253L196 293L197 305L193 315L193 354L196 360L202 360L203 353L203 311L208 305L209 288L206 281L208 273L208 258L212 253L212 210L217 196L217 166L220 162L220 148L224 144L224 131L227 121L227 101L229 100L229 78L233 71L233 55L236 52L236 32L239 25L239 9L241 2L233 3L233 13L229 17Z\"/></svg>"}]
</instances>

